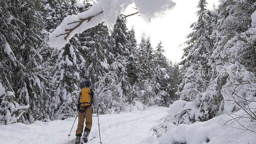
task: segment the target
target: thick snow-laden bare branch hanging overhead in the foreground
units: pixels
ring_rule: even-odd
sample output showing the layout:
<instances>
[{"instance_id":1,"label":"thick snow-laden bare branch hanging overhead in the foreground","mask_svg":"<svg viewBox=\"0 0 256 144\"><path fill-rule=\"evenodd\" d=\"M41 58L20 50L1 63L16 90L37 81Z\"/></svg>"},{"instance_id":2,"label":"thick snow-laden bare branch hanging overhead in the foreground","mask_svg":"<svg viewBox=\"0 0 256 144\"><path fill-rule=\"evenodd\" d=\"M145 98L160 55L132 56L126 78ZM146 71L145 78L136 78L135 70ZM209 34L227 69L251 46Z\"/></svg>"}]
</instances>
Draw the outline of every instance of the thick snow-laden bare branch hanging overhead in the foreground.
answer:
<instances>
[{"instance_id":1,"label":"thick snow-laden bare branch hanging overhead in the foreground","mask_svg":"<svg viewBox=\"0 0 256 144\"><path fill-rule=\"evenodd\" d=\"M82 33L103 21L112 33L117 15L121 15L121 12L132 3L135 3L138 10L134 14L140 13L148 22L152 18L162 17L175 6L172 0L100 0L93 4L90 10L64 18L60 26L49 35L49 46L61 49L75 34Z\"/></svg>"}]
</instances>

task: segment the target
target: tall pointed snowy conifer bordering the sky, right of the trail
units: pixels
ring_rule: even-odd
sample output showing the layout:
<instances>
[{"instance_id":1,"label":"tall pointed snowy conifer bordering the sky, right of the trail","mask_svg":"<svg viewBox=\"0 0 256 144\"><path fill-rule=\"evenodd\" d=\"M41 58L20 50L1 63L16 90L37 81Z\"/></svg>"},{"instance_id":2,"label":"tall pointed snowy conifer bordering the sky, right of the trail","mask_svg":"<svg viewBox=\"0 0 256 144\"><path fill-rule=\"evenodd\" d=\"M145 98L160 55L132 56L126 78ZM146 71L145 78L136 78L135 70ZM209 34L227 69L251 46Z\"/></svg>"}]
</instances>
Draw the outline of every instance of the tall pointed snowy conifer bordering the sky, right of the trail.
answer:
<instances>
[{"instance_id":1,"label":"tall pointed snowy conifer bordering the sky, right of the trail","mask_svg":"<svg viewBox=\"0 0 256 144\"><path fill-rule=\"evenodd\" d=\"M216 111L208 107L209 105L220 106L220 101L216 102L214 97L204 93L212 77L208 74L212 68L207 63L213 48L213 42L210 39L212 15L209 15L210 12L206 10L206 4L205 0L199 0L197 6L199 10L196 12L198 20L191 25L193 32L188 35L190 39L186 42L189 46L184 49L182 56L184 60L180 62L183 65L183 75L177 92L181 100L195 101L200 110L199 113L202 113L195 116L200 121L208 120L215 115ZM186 74L187 70L192 71L192 75Z\"/></svg>"}]
</instances>

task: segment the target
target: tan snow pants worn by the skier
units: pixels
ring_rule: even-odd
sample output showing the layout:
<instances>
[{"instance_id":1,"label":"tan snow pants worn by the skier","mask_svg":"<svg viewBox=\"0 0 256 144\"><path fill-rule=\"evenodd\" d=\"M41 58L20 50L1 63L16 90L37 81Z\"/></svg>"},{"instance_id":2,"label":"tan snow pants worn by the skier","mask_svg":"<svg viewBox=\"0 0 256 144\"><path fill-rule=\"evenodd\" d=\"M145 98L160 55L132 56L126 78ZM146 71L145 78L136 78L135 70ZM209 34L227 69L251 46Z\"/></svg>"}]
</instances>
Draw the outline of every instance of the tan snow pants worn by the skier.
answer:
<instances>
[{"instance_id":1,"label":"tan snow pants worn by the skier","mask_svg":"<svg viewBox=\"0 0 256 144\"><path fill-rule=\"evenodd\" d=\"M83 133L84 118L85 118L85 128L88 128L91 130L91 128L92 128L92 106L86 108L84 113L80 113L78 111L78 124L77 124L76 134Z\"/></svg>"}]
</instances>

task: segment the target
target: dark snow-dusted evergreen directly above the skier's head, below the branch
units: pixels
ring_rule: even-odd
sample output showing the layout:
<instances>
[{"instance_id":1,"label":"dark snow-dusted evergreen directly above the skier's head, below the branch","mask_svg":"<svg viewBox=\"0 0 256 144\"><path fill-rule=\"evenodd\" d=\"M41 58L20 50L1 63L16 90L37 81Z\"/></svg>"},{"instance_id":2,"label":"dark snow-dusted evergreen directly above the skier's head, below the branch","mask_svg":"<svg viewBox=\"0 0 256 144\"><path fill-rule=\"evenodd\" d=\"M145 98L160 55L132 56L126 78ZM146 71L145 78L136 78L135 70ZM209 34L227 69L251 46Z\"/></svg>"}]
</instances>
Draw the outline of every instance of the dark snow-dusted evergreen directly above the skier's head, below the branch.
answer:
<instances>
[{"instance_id":1,"label":"dark snow-dusted evergreen directly above the skier's head, below the branch","mask_svg":"<svg viewBox=\"0 0 256 144\"><path fill-rule=\"evenodd\" d=\"M79 40L83 45L80 52L84 58L80 67L83 78L90 79L92 84L98 82L108 70L108 37L108 29L103 24L80 34Z\"/></svg>"}]
</instances>

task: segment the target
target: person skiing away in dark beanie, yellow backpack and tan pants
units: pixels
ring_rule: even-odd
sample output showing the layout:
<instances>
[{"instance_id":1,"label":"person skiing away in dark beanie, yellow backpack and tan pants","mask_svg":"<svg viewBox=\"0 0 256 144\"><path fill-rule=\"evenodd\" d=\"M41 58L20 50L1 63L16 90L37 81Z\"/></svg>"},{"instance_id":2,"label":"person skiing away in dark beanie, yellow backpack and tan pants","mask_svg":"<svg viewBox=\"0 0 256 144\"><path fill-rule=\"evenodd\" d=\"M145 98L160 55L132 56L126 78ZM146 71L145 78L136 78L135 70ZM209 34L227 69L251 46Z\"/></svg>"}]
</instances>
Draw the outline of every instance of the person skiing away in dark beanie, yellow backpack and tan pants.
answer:
<instances>
[{"instance_id":1,"label":"person skiing away in dark beanie, yellow backpack and tan pants","mask_svg":"<svg viewBox=\"0 0 256 144\"><path fill-rule=\"evenodd\" d=\"M83 140L84 143L88 141L88 135L92 128L92 102L95 108L98 110L98 101L95 92L91 89L91 81L85 81L85 88L78 93L76 98L77 110L78 110L78 124L76 129L76 144L80 143L80 138L83 133L84 128L84 118L85 118L85 128Z\"/></svg>"}]
</instances>

